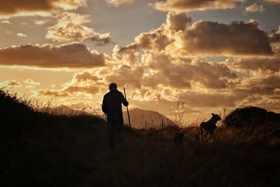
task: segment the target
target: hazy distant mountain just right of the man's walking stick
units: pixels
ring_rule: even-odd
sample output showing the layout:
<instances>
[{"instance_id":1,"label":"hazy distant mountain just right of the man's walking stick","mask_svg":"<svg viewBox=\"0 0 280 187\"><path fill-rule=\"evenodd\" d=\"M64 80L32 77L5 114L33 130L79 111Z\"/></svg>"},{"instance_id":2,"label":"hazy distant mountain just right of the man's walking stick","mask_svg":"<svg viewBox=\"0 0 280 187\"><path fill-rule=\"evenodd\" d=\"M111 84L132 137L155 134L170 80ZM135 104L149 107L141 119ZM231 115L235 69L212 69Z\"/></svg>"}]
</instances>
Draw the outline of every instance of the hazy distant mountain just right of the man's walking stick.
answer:
<instances>
[{"instance_id":1,"label":"hazy distant mountain just right of the man's walking stick","mask_svg":"<svg viewBox=\"0 0 280 187\"><path fill-rule=\"evenodd\" d=\"M127 111L123 111L125 124L128 124ZM137 129L149 129L151 127L160 128L165 125L175 125L175 123L166 116L156 111L145 111L142 109L130 110L130 123Z\"/></svg>"}]
</instances>

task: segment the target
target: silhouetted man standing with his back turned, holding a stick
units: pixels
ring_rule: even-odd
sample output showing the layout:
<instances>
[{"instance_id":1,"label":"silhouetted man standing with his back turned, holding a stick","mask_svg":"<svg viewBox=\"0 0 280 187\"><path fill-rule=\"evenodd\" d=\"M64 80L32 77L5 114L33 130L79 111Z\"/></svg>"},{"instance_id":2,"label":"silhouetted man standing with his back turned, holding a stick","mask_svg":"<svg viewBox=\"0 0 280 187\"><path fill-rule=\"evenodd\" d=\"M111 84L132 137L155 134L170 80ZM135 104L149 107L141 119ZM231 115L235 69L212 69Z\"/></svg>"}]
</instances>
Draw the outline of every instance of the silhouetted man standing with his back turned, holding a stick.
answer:
<instances>
[{"instance_id":1,"label":"silhouetted man standing with his back turned, holding a stick","mask_svg":"<svg viewBox=\"0 0 280 187\"><path fill-rule=\"evenodd\" d=\"M115 146L115 131L116 140L123 141L123 110L122 104L128 106L127 99L123 93L117 89L116 83L109 85L109 92L103 97L102 111L107 115L109 143L111 148Z\"/></svg>"}]
</instances>

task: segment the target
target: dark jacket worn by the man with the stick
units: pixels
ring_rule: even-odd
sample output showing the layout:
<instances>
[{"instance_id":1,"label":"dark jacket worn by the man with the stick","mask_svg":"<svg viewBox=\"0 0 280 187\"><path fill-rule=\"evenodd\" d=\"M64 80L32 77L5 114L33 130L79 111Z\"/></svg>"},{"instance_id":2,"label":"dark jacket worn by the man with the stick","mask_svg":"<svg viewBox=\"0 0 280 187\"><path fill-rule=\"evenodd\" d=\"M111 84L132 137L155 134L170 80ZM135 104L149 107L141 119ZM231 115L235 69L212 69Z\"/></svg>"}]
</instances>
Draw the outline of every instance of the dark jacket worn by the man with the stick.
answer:
<instances>
[{"instance_id":1,"label":"dark jacket worn by the man with the stick","mask_svg":"<svg viewBox=\"0 0 280 187\"><path fill-rule=\"evenodd\" d=\"M103 97L102 111L108 116L123 116L122 104L128 106L128 102L119 90L110 90Z\"/></svg>"}]
</instances>

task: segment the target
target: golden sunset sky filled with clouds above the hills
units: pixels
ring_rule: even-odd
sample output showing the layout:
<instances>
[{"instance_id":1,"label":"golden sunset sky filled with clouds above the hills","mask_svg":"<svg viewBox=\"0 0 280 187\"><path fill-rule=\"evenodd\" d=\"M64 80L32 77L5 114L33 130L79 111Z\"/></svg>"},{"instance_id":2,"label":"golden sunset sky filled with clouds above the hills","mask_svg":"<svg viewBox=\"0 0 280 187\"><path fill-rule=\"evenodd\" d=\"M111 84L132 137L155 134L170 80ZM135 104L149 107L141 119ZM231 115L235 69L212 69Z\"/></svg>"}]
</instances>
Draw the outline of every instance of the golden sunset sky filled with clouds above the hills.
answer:
<instances>
[{"instance_id":1,"label":"golden sunset sky filled with clouds above the hills","mask_svg":"<svg viewBox=\"0 0 280 187\"><path fill-rule=\"evenodd\" d=\"M280 112L279 0L0 0L0 88L184 120L237 107ZM171 113L173 113L171 115Z\"/></svg>"}]
</instances>

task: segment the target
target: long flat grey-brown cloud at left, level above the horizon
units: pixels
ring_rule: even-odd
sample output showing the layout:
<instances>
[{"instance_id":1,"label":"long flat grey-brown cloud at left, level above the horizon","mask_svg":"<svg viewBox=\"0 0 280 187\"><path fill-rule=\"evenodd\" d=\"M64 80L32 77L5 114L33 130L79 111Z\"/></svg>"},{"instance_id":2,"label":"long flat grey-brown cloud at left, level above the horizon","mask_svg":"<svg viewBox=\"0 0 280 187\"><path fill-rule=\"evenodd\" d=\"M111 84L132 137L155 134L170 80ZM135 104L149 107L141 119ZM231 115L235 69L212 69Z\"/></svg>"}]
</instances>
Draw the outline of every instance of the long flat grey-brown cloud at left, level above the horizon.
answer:
<instances>
[{"instance_id":1,"label":"long flat grey-brown cloud at left, level above the horizon","mask_svg":"<svg viewBox=\"0 0 280 187\"><path fill-rule=\"evenodd\" d=\"M2 66L91 68L104 66L106 60L109 59L109 56L97 50L90 51L81 43L61 46L27 44L0 49L0 65Z\"/></svg>"}]
</instances>

